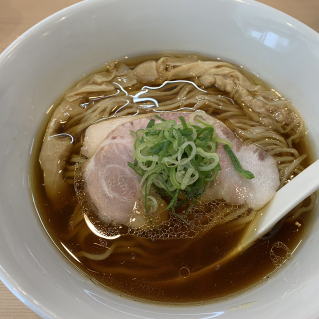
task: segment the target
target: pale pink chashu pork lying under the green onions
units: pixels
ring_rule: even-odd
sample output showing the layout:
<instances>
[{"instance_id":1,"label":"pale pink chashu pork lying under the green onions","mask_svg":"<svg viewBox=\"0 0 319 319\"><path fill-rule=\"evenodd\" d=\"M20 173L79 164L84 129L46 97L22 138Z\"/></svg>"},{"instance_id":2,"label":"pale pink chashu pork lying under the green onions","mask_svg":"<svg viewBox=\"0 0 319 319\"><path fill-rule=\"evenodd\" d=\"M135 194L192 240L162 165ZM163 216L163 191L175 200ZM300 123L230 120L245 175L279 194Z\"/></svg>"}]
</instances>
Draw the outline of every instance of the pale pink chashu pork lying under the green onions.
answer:
<instances>
[{"instance_id":1,"label":"pale pink chashu pork lying under the green onions","mask_svg":"<svg viewBox=\"0 0 319 319\"><path fill-rule=\"evenodd\" d=\"M263 207L279 187L279 172L276 160L260 147L243 144L222 122L207 116L204 111L195 111L215 127L219 138L233 144L243 168L250 170L255 178L249 180L234 167L222 145L217 148L220 165L218 177L205 194L213 199L224 199L232 204L247 203L252 209ZM161 113L166 120L180 123L183 116L188 122L190 112ZM105 222L128 224L136 214L136 203L141 199L141 177L130 168L133 162L134 136L131 131L145 129L152 114L114 118L89 127L85 134L82 154L88 158L83 167L86 195L98 216ZM158 119L154 118L156 122Z\"/></svg>"}]
</instances>

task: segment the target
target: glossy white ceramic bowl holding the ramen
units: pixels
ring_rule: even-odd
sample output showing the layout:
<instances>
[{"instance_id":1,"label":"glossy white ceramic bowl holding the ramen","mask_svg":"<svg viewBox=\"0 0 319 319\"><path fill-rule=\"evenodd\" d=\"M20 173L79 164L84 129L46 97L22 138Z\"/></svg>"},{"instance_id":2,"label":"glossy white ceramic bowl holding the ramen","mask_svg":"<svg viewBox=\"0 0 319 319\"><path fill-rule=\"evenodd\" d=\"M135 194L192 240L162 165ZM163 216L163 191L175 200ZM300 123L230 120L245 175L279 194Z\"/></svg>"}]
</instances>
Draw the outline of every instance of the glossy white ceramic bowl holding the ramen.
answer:
<instances>
[{"instance_id":1,"label":"glossy white ceramic bowl holding the ramen","mask_svg":"<svg viewBox=\"0 0 319 319\"><path fill-rule=\"evenodd\" d=\"M28 188L45 112L110 59L199 52L243 65L293 101L319 150L319 34L253 0L90 0L20 36L0 55L0 278L43 318L312 319L319 316L319 220L289 265L211 305L160 307L121 298L76 271L50 242Z\"/></svg>"}]
</instances>

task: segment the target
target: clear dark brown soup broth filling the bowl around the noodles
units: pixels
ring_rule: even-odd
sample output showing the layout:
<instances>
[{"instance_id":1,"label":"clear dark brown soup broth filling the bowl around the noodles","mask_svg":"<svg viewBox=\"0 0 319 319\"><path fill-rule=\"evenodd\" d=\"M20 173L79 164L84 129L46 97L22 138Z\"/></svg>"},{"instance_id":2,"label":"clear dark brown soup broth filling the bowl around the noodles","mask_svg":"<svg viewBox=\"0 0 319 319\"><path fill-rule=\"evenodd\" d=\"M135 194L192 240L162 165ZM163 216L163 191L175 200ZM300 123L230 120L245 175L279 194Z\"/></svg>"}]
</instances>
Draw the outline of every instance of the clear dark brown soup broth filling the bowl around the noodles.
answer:
<instances>
[{"instance_id":1,"label":"clear dark brown soup broth filling the bowl around the noodles","mask_svg":"<svg viewBox=\"0 0 319 319\"><path fill-rule=\"evenodd\" d=\"M141 60L135 59L125 63L136 65ZM249 76L256 82L260 81L252 75ZM235 107L240 107L225 92L216 88L211 90L215 92L214 94L231 100ZM89 99L84 98L82 103L89 103ZM223 118L223 110L209 109L209 107L202 109L231 127L229 119L225 121ZM135 299L158 303L203 303L228 297L262 280L267 280L276 269L282 267L304 238L311 224L314 209L312 212L303 212L295 219L288 218L281 221L280 225L246 252L225 264L217 263L212 271L195 277L189 275L214 264L236 247L245 228L230 229L228 223L224 223L200 232L194 238L173 240L152 240L132 235L106 240L93 234L84 221L72 229L71 216L78 203L74 189L71 185L72 196L63 199L64 207L54 210L44 189L43 172L38 160L51 115L52 111L43 121L32 154L31 190L36 209L47 233L66 258L106 289ZM285 134L283 136L289 138ZM82 137L83 132L74 138L79 142ZM298 139L293 145L300 155L308 155L303 161L304 167L313 161L310 145L305 137ZM310 201L311 198L306 199L303 206L307 207ZM209 207L207 205L207 210L211 209ZM81 251L102 254L114 242L118 242L120 248L115 249L104 260L95 261L78 254Z\"/></svg>"}]
</instances>

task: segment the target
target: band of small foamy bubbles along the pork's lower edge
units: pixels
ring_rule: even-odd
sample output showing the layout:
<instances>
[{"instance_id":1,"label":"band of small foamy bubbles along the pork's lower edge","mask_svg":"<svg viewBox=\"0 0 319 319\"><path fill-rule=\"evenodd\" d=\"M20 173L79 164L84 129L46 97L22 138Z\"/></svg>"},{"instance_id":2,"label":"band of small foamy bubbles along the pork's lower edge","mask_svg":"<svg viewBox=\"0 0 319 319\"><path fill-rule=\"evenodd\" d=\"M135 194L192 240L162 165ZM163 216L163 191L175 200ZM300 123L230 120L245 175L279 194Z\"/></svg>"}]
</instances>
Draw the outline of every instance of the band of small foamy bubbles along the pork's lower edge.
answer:
<instances>
[{"instance_id":1,"label":"band of small foamy bubbles along the pork's lower edge","mask_svg":"<svg viewBox=\"0 0 319 319\"><path fill-rule=\"evenodd\" d=\"M133 225L112 225L99 220L94 209L87 202L84 182L81 175L81 165L76 169L75 191L77 198L82 205L83 212L94 228L105 237L117 238L123 235L134 235L152 240L169 240L177 238L193 238L200 232L204 232L212 227L225 223L228 220L244 219L249 217L251 212L247 205L227 204L222 200L212 200L207 196L201 196L196 200L196 204L189 209L185 215L186 223L183 219L172 218L163 221L161 215L153 215L153 224L144 224L143 227ZM154 227L153 225L159 225ZM139 225L140 226L140 225Z\"/></svg>"}]
</instances>

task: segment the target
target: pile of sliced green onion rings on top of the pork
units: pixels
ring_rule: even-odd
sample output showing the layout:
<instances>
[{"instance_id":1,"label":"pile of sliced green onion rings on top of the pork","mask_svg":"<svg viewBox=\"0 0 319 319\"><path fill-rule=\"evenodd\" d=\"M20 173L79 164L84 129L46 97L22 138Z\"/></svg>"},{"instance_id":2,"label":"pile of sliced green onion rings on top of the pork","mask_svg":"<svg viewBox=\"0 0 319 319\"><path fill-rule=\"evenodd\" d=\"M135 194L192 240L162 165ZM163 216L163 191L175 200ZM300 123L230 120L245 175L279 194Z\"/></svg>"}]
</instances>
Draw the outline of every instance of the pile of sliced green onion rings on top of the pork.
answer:
<instances>
[{"instance_id":1,"label":"pile of sliced green onion rings on top of the pork","mask_svg":"<svg viewBox=\"0 0 319 319\"><path fill-rule=\"evenodd\" d=\"M225 144L224 148L234 167L243 176L254 178L250 171L241 167L231 150L231 143L218 139L214 127L209 123L198 117L196 122L201 126L191 119L186 123L183 116L178 117L180 124L158 115L155 118L160 123L152 119L146 129L131 131L136 137L135 161L128 163L142 176L141 187L148 214L149 205L153 211L157 209L156 199L149 194L151 187L160 195L170 198L165 209L171 209L175 215L175 207L190 200L194 203L203 194L207 184L213 183L221 169L216 154L218 142Z\"/></svg>"}]
</instances>

